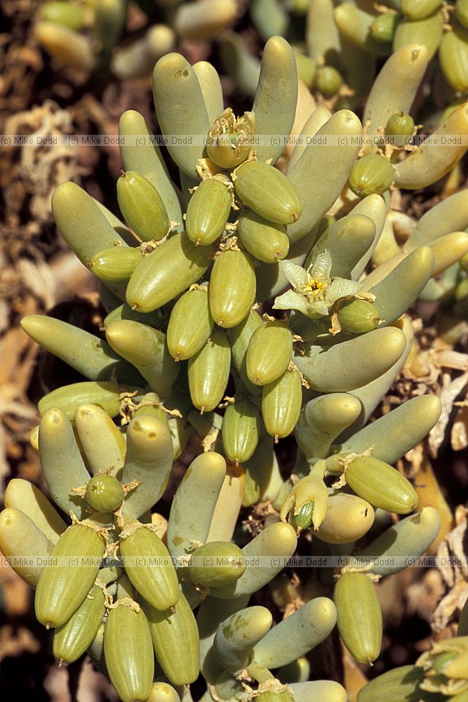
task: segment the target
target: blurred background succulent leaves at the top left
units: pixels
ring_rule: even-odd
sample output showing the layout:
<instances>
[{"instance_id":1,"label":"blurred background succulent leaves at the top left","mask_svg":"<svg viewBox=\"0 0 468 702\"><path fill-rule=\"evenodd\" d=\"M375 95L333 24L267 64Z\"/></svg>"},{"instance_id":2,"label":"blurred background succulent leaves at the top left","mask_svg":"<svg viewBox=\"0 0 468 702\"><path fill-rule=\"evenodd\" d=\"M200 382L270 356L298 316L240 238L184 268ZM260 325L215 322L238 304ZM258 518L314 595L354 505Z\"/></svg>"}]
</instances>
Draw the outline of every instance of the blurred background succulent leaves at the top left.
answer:
<instances>
[{"instance_id":1,"label":"blurred background succulent leaves at the top left","mask_svg":"<svg viewBox=\"0 0 468 702\"><path fill-rule=\"evenodd\" d=\"M121 80L151 75L154 63L178 41L207 41L234 22L234 0L142 0L152 22L145 34L121 45L126 0L47 0L34 25L34 36L60 65L91 73L110 68ZM206 70L200 67L200 72Z\"/></svg>"}]
</instances>

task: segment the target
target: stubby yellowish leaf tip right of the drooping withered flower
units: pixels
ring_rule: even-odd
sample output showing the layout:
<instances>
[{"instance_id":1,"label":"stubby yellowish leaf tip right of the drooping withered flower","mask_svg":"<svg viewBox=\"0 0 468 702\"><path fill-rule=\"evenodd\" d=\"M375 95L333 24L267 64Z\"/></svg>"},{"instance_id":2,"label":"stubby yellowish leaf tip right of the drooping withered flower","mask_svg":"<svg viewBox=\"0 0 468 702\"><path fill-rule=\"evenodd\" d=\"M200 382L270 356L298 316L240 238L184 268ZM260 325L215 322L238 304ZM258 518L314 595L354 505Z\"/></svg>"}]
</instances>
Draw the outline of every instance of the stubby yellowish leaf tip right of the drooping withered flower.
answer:
<instances>
[{"instance_id":1,"label":"stubby yellowish leaf tip right of the drooping withered flower","mask_svg":"<svg viewBox=\"0 0 468 702\"><path fill-rule=\"evenodd\" d=\"M372 506L356 495L338 492L328 498L325 519L314 536L326 543L352 543L374 523Z\"/></svg>"}]
</instances>

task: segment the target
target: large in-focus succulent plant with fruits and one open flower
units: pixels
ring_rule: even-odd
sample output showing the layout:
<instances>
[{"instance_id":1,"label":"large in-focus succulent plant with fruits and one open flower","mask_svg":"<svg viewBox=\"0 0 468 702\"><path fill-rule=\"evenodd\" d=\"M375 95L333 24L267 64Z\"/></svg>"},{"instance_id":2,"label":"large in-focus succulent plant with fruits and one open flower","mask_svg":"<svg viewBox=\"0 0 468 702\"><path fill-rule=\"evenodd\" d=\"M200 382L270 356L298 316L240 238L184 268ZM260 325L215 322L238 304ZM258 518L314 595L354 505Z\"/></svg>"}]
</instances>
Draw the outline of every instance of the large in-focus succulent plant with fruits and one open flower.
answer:
<instances>
[{"instance_id":1,"label":"large in-focus succulent plant with fruits and one open flower","mask_svg":"<svg viewBox=\"0 0 468 702\"><path fill-rule=\"evenodd\" d=\"M408 128L426 65L424 46L394 53L366 119ZM154 103L163 135L184 138L167 139L180 190L144 119L128 111L117 193L130 228L73 183L53 196L62 237L100 279L106 340L50 317L23 319L29 336L88 380L41 399L32 433L51 497L73 513L72 525L32 486L12 481L0 548L10 557L58 558L33 571L16 566L36 587L39 621L56 628L64 661L90 651L123 702L182 698L180 686L199 670L204 702L344 702L339 684L307 682L304 656L337 623L356 661L374 661L382 614L373 581L419 557L441 526L424 488L392 468L435 425L439 399L414 397L366 423L413 350L406 310L468 251L466 206L448 220L447 201L435 206L425 216L432 226L416 227L406 250L363 274L382 237L388 241L391 183L434 183L465 148L423 144L392 163L371 145L358 158L356 114L319 108L302 130L317 138L298 143L282 173L274 163L283 140L269 136L290 134L297 71L281 37L265 47L253 110L243 118L223 109L213 67L197 73L178 54L156 64ZM468 133L467 122L464 105L439 129ZM258 305L281 317L262 316ZM225 397L230 388L234 397ZM274 442L292 432L297 458L285 480ZM150 510L190 437L203 453L173 498L166 550ZM261 503L271 513L248 541L239 510ZM392 525L390 513L408 516ZM269 610L248 601L274 581L305 530L312 549L318 543L366 565L340 562L330 597L314 597L271 628ZM100 569L117 548L123 562ZM83 556L93 565L81 574L60 560ZM92 631L80 614L91 608ZM134 636L119 640L122 628ZM459 668L444 661L424 659L424 677L437 666L447 680L456 677ZM398 696L395 687L383 699L406 700L406 688ZM421 689L428 699L439 694ZM462 685L440 689L443 698L447 689L464 693Z\"/></svg>"}]
</instances>

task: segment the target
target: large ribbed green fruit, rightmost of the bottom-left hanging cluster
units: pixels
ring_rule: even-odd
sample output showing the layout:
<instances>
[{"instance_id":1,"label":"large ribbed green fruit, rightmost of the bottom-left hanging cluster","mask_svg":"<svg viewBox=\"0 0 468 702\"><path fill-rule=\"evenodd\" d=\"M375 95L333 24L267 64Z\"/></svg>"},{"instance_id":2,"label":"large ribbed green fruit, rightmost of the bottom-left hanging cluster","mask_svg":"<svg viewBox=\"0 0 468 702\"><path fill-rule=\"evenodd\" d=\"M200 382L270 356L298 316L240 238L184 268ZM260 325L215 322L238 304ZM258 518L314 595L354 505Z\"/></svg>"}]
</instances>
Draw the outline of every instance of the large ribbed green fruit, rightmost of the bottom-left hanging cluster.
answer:
<instances>
[{"instance_id":1,"label":"large ribbed green fruit, rightmost of the bottom-left hanging cluster","mask_svg":"<svg viewBox=\"0 0 468 702\"><path fill-rule=\"evenodd\" d=\"M200 671L199 630L185 595L180 595L175 612L148 607L147 616L154 652L168 681L194 682Z\"/></svg>"}]
</instances>

